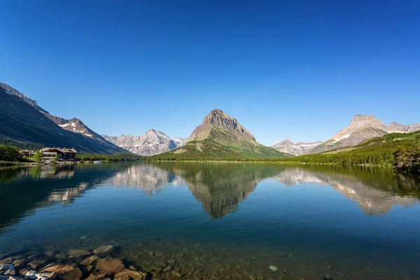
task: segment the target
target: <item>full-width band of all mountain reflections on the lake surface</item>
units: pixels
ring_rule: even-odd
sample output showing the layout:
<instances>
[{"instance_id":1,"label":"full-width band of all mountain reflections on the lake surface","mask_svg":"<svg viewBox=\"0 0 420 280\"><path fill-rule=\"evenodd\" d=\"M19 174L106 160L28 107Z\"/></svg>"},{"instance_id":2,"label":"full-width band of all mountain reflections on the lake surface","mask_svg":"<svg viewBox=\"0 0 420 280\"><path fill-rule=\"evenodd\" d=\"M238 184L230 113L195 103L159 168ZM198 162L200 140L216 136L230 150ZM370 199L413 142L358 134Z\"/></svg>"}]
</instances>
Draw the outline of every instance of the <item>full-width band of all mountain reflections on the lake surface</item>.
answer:
<instances>
[{"instance_id":1,"label":"full-width band of all mountain reflections on the lake surface","mask_svg":"<svg viewBox=\"0 0 420 280\"><path fill-rule=\"evenodd\" d=\"M136 188L146 195L167 186L188 186L212 218L238 211L258 183L272 178L286 186L332 186L366 214L386 214L395 205L419 201L419 177L391 169L328 166L279 166L179 162L155 164L57 165L0 170L0 228L20 221L34 209L70 204L90 188ZM17 203L18 202L18 203Z\"/></svg>"}]
</instances>

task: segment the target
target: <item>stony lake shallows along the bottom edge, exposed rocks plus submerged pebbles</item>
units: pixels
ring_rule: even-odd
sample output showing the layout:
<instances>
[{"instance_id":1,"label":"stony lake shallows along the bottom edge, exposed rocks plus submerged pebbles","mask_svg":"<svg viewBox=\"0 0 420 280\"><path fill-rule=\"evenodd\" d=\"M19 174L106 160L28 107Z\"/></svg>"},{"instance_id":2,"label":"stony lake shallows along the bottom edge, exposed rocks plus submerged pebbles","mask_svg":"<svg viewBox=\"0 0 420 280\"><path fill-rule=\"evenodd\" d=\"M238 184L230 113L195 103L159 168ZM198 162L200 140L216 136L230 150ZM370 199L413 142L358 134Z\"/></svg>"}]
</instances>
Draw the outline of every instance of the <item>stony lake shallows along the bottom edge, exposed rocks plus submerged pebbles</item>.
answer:
<instances>
[{"instance_id":1,"label":"stony lake shallows along the bottom edge, exposed rocks plus submerged pebbles","mask_svg":"<svg viewBox=\"0 0 420 280\"><path fill-rule=\"evenodd\" d=\"M107 242L113 245L99 246L104 242L94 241L97 238L81 236L72 245L50 242L3 250L0 280L416 279L385 267L377 269L373 263L360 269L338 267L321 255L298 257L284 251L249 251L246 246L234 249L163 240L152 244L113 240Z\"/></svg>"}]
</instances>

